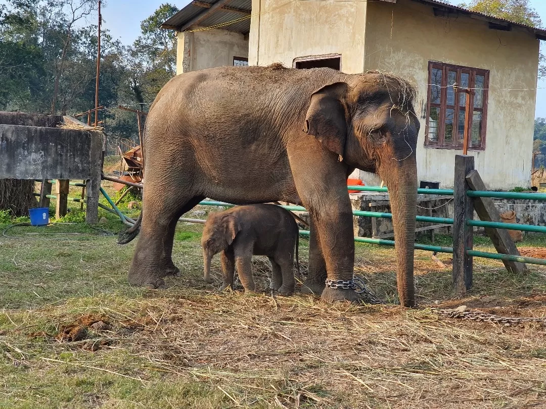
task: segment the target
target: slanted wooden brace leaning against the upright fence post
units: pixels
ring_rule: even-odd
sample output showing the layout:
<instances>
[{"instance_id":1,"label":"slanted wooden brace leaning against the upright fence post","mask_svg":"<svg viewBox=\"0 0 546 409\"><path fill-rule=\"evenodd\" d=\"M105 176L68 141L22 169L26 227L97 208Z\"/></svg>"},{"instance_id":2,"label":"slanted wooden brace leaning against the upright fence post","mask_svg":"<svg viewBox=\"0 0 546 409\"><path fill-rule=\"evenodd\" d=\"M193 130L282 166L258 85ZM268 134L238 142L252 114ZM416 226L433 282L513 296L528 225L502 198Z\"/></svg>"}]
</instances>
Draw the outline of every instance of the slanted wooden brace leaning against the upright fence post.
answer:
<instances>
[{"instance_id":1,"label":"slanted wooden brace leaning against the upright fence post","mask_svg":"<svg viewBox=\"0 0 546 409\"><path fill-rule=\"evenodd\" d=\"M466 181L470 189L472 190L487 190L482 178L479 176L477 170L472 170L466 175ZM476 213L480 220L483 221L496 221L501 222L501 215L498 214L498 210L495 207L495 203L490 197L476 197L474 199L474 207L476 207ZM508 230L503 228L485 228L485 232L495 245L495 249L498 254L512 254L519 256L519 250L515 246L514 240L508 234ZM515 261L502 260L506 269L512 273L522 273L526 270L525 263L518 263Z\"/></svg>"}]
</instances>

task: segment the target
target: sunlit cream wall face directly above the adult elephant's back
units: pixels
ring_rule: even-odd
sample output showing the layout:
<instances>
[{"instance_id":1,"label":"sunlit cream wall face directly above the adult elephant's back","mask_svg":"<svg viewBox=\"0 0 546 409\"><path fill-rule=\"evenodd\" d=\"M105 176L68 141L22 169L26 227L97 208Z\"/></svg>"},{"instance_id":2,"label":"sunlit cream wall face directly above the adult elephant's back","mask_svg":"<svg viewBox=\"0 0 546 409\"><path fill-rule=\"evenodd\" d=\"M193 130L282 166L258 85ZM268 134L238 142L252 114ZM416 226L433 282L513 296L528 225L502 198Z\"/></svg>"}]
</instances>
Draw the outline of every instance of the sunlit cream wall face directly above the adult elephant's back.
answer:
<instances>
[{"instance_id":1,"label":"sunlit cream wall face directly above the adult elephant's back","mask_svg":"<svg viewBox=\"0 0 546 409\"><path fill-rule=\"evenodd\" d=\"M360 73L364 65L366 2L252 0L248 63L280 62L339 53L341 69ZM257 13L260 14L257 14Z\"/></svg>"}]
</instances>

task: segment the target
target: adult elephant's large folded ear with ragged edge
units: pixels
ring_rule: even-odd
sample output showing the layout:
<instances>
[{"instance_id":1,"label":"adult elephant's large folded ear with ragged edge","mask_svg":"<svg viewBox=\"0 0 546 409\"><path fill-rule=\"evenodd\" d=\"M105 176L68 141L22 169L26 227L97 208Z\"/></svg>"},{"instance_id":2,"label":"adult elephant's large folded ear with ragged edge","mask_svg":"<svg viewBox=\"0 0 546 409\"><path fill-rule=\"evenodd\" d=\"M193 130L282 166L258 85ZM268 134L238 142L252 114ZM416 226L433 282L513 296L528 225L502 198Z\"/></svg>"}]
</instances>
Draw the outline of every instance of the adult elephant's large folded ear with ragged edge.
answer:
<instances>
[{"instance_id":1,"label":"adult elephant's large folded ear with ragged edge","mask_svg":"<svg viewBox=\"0 0 546 409\"><path fill-rule=\"evenodd\" d=\"M347 120L342 103L347 88L346 82L334 82L313 92L304 124L306 134L316 137L329 151L340 157L345 152L347 139Z\"/></svg>"}]
</instances>

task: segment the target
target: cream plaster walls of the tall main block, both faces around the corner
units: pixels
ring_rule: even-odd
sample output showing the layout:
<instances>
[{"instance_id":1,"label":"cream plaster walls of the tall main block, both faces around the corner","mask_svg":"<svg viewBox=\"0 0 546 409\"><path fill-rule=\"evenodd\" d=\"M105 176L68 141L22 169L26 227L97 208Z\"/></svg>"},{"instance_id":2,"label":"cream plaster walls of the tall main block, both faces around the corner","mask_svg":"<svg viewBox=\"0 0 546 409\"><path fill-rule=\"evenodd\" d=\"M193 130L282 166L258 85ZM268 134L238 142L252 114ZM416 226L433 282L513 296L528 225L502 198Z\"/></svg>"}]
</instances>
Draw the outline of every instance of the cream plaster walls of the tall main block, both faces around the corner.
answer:
<instances>
[{"instance_id":1,"label":"cream plaster walls of the tall main block, both faces around the corner","mask_svg":"<svg viewBox=\"0 0 546 409\"><path fill-rule=\"evenodd\" d=\"M409 0L253 0L252 10L250 65L292 67L296 57L340 53L345 73L381 69L418 85L418 177L440 181L442 187L453 186L455 154L462 151L424 147L428 63L490 70L485 151L469 153L488 188L529 185L539 49L533 35L516 27L491 30L487 22L464 16L436 17L430 5ZM381 183L370 173L360 172L360 177L368 184Z\"/></svg>"}]
</instances>

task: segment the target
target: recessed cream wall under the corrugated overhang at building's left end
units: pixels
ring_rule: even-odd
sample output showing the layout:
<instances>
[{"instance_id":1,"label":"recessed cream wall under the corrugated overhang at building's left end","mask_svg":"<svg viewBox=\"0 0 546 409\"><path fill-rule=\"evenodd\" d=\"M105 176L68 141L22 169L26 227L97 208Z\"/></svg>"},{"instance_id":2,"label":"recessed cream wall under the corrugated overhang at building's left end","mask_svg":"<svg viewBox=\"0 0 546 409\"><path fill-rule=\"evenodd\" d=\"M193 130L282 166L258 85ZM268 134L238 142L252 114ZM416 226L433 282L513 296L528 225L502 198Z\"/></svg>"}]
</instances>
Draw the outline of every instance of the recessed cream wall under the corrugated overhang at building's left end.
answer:
<instances>
[{"instance_id":1,"label":"recessed cream wall under the corrugated overhang at building's left end","mask_svg":"<svg viewBox=\"0 0 546 409\"><path fill-rule=\"evenodd\" d=\"M233 57L248 58L248 38L222 29L177 34L176 74L233 65Z\"/></svg>"}]
</instances>

